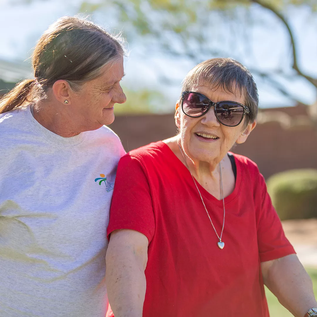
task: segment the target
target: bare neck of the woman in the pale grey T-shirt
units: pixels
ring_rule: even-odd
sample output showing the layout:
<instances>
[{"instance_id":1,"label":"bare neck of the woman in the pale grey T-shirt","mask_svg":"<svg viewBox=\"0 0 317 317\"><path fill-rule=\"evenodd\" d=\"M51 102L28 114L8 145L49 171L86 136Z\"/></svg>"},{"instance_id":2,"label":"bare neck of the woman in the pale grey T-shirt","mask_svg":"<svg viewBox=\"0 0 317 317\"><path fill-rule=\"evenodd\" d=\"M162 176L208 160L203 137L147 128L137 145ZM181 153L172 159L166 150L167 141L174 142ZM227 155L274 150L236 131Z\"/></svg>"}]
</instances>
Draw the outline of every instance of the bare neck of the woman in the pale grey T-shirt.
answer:
<instances>
[{"instance_id":1,"label":"bare neck of the woman in the pale grey T-shirt","mask_svg":"<svg viewBox=\"0 0 317 317\"><path fill-rule=\"evenodd\" d=\"M63 107L60 103L39 100L33 107L34 119L49 131L58 134L64 138L70 138L78 135L82 131L78 131L71 113L67 107Z\"/></svg>"}]
</instances>

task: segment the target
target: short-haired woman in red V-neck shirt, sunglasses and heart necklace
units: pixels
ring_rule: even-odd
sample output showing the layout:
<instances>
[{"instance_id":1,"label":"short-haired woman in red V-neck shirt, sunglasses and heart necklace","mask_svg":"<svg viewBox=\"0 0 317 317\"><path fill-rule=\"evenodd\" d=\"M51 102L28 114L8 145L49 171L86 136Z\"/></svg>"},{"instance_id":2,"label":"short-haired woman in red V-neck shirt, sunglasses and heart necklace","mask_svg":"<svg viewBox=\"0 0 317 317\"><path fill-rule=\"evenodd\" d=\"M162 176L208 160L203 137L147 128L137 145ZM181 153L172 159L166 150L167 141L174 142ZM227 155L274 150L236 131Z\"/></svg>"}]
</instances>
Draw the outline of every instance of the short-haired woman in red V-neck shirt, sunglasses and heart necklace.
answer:
<instances>
[{"instance_id":1,"label":"short-haired woman in red V-neck shirt, sunglasses and heart necklace","mask_svg":"<svg viewBox=\"0 0 317 317\"><path fill-rule=\"evenodd\" d=\"M267 317L263 283L304 316L317 306L312 282L264 178L228 152L256 126L252 75L232 59L211 59L182 91L179 134L119 162L106 256L114 316Z\"/></svg>"}]
</instances>

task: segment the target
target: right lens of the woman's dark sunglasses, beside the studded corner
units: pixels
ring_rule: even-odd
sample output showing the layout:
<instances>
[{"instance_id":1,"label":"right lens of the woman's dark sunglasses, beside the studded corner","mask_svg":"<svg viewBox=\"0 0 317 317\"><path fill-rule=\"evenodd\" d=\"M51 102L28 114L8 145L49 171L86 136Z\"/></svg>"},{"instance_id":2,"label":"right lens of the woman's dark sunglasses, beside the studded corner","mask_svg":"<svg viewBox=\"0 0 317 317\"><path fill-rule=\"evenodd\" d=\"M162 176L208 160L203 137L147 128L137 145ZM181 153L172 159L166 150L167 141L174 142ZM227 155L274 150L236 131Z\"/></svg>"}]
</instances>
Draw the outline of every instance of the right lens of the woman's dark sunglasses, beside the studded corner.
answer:
<instances>
[{"instance_id":1,"label":"right lens of the woman's dark sunglasses, beside the studded corner","mask_svg":"<svg viewBox=\"0 0 317 317\"><path fill-rule=\"evenodd\" d=\"M235 102L219 102L216 114L221 123L226 126L236 126L243 117L243 107Z\"/></svg>"}]
</instances>

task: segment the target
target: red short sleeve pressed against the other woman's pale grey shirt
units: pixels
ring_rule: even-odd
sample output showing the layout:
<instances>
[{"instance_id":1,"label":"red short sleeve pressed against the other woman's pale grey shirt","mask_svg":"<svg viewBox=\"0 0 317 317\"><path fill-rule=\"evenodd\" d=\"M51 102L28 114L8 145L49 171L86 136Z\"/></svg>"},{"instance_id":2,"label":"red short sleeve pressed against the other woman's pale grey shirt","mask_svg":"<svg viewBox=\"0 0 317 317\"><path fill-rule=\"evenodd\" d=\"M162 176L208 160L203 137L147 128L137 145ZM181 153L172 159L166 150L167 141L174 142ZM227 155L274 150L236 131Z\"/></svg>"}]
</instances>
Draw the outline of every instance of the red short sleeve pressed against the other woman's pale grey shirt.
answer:
<instances>
[{"instance_id":1,"label":"red short sleeve pressed against the other woman's pale grey shirt","mask_svg":"<svg viewBox=\"0 0 317 317\"><path fill-rule=\"evenodd\" d=\"M152 240L155 221L146 170L140 160L129 154L118 164L114 183L107 237L118 229L131 229Z\"/></svg>"}]
</instances>

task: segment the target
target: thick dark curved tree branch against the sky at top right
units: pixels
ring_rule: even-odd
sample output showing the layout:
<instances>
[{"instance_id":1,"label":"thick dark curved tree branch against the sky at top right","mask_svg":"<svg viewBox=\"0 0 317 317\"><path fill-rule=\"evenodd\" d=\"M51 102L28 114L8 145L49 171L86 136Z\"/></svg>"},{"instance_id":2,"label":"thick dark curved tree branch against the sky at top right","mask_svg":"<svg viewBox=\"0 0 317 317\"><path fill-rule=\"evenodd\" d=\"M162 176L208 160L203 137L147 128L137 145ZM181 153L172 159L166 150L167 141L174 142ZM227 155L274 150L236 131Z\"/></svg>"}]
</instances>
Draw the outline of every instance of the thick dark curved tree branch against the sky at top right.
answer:
<instances>
[{"instance_id":1,"label":"thick dark curved tree branch against the sky at top right","mask_svg":"<svg viewBox=\"0 0 317 317\"><path fill-rule=\"evenodd\" d=\"M311 82L317 88L317 79L304 74L301 71L301 69L298 67L296 43L294 40L293 31L291 30L285 17L280 12L275 10L275 8L273 8L273 6L269 5L268 3L264 3L262 0L250 0L250 1L253 3L259 4L261 7L265 8L265 9L270 10L272 13L275 14L275 16L277 16L281 20L281 22L284 24L284 26L286 27L286 29L288 31L288 35L289 35L290 41L291 41L291 47L292 47L292 52L293 52L293 66L292 66L292 68L297 72L297 74L306 78L309 82Z\"/></svg>"}]
</instances>

